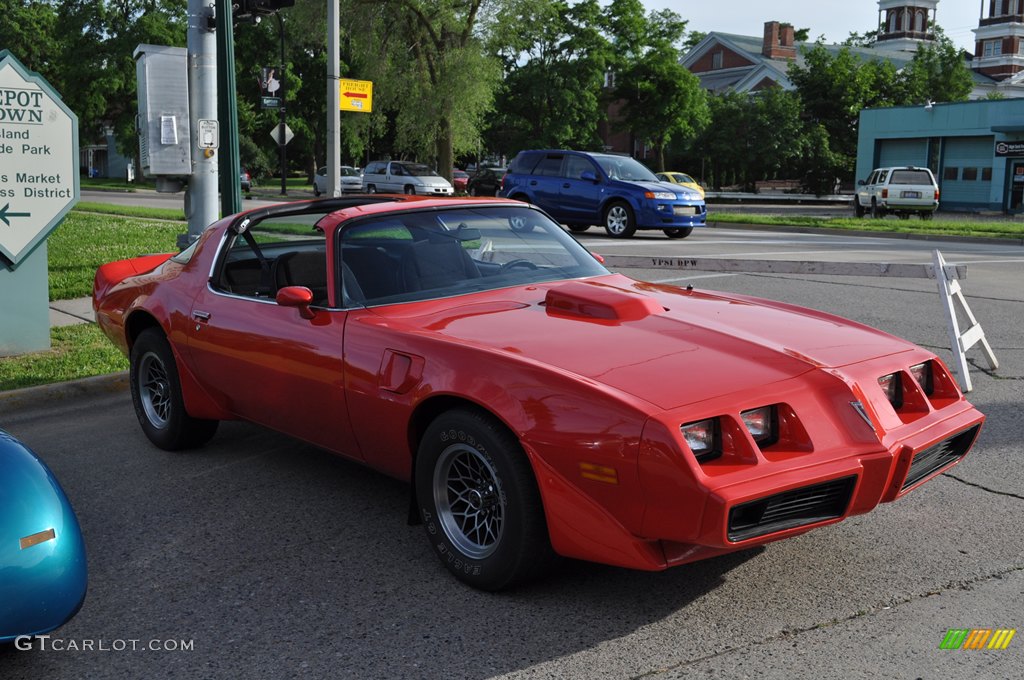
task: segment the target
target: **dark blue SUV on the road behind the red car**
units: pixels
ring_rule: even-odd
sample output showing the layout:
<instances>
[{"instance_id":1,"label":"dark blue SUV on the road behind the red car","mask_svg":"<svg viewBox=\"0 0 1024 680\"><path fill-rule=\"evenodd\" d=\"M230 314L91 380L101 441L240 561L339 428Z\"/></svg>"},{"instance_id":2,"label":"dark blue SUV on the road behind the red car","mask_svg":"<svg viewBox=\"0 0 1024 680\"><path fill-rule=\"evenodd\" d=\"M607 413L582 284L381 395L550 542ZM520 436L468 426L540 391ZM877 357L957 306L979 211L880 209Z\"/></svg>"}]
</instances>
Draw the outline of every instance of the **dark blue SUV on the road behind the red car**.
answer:
<instances>
[{"instance_id":1,"label":"dark blue SUV on the road behind the red car","mask_svg":"<svg viewBox=\"0 0 1024 680\"><path fill-rule=\"evenodd\" d=\"M615 239L637 229L684 239L708 223L699 194L663 182L636 160L615 154L519 152L499 196L540 206L578 233L603 224Z\"/></svg>"}]
</instances>

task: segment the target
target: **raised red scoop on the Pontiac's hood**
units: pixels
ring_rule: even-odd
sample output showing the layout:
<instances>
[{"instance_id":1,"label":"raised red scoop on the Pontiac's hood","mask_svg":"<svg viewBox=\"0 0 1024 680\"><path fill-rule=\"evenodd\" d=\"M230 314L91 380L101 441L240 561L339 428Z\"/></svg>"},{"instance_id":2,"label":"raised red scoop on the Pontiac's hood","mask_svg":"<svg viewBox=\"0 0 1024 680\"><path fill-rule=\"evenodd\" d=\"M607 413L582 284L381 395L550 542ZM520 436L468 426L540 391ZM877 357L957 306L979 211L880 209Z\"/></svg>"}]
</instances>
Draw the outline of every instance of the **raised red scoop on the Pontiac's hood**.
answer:
<instances>
[{"instance_id":1,"label":"raised red scoop on the Pontiac's hood","mask_svg":"<svg viewBox=\"0 0 1024 680\"><path fill-rule=\"evenodd\" d=\"M604 324L635 322L666 311L654 298L597 282L573 281L552 288L544 304L550 316Z\"/></svg>"}]
</instances>

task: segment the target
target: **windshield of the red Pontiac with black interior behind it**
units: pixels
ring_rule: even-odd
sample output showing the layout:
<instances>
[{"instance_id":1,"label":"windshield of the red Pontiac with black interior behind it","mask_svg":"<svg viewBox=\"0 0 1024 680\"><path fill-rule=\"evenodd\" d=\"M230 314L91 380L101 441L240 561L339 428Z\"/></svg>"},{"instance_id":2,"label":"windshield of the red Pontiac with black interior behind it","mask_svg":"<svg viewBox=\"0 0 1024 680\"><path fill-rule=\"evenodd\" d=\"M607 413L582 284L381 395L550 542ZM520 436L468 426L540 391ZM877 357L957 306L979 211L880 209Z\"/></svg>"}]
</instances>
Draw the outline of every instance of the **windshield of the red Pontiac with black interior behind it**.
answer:
<instances>
[{"instance_id":1,"label":"windshield of the red Pontiac with black interior behind it","mask_svg":"<svg viewBox=\"0 0 1024 680\"><path fill-rule=\"evenodd\" d=\"M607 273L528 207L376 215L347 222L340 241L344 297L367 306Z\"/></svg>"}]
</instances>

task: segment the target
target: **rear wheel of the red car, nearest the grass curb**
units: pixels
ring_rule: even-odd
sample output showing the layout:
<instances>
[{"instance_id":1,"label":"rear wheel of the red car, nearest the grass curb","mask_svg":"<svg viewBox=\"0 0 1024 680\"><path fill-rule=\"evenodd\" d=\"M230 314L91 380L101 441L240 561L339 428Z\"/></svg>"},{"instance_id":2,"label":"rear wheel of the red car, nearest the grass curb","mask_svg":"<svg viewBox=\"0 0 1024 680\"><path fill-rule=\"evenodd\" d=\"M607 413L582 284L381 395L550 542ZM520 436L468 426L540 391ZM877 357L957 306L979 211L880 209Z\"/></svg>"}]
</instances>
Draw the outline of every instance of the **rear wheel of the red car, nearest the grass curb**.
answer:
<instances>
[{"instance_id":1,"label":"rear wheel of the red car, nearest the grass curb","mask_svg":"<svg viewBox=\"0 0 1024 680\"><path fill-rule=\"evenodd\" d=\"M174 352L163 331L142 331L131 348L131 399L142 432L166 451L201 447L217 431L219 421L193 418L185 412Z\"/></svg>"}]
</instances>

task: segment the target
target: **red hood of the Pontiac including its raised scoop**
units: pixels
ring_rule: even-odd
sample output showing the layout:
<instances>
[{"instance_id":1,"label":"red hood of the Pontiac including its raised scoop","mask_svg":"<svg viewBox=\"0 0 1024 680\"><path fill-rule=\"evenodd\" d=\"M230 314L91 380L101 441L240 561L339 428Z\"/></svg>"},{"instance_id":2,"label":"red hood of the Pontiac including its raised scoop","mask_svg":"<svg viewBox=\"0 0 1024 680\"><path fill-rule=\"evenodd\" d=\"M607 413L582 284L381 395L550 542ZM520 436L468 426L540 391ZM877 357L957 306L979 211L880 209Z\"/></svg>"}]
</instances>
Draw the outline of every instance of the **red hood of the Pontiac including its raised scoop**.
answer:
<instances>
[{"instance_id":1,"label":"red hood of the Pontiac including its raised scoop","mask_svg":"<svg viewBox=\"0 0 1024 680\"><path fill-rule=\"evenodd\" d=\"M622 275L506 289L407 318L673 409L914 348L811 309ZM417 305L418 306L418 305Z\"/></svg>"}]
</instances>

